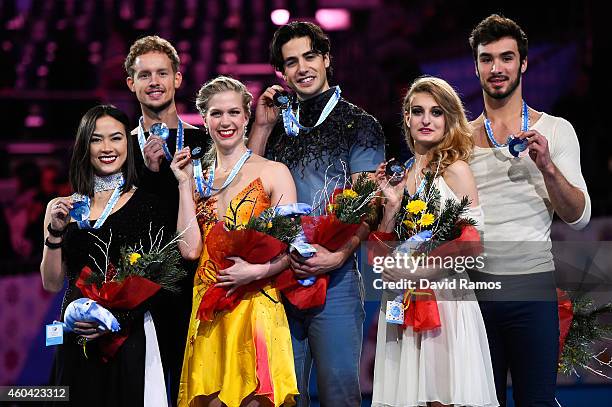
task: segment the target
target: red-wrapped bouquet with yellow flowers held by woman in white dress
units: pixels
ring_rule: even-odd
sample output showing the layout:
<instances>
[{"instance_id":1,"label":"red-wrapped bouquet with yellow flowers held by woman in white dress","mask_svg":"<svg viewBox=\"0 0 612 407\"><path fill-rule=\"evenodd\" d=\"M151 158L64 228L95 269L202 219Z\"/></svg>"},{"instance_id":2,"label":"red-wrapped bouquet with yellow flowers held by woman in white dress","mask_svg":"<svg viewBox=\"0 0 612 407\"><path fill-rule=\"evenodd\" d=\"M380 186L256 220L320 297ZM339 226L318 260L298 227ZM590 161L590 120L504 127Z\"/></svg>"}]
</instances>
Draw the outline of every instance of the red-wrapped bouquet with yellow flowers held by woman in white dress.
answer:
<instances>
[{"instance_id":1,"label":"red-wrapped bouquet with yellow flowers held by woman in white dress","mask_svg":"<svg viewBox=\"0 0 612 407\"><path fill-rule=\"evenodd\" d=\"M396 215L395 233L370 234L368 259L385 256L393 249L411 256L469 256L482 252L482 242L476 222L464 217L469 209L468 197L457 202L447 199L440 205L440 191L434 185L435 176L425 174L422 194L404 195L401 210ZM399 246L389 245L392 241ZM412 301L412 300L415 301ZM431 289L413 289L404 293L403 327L412 326L415 331L440 327L440 317Z\"/></svg>"}]
</instances>

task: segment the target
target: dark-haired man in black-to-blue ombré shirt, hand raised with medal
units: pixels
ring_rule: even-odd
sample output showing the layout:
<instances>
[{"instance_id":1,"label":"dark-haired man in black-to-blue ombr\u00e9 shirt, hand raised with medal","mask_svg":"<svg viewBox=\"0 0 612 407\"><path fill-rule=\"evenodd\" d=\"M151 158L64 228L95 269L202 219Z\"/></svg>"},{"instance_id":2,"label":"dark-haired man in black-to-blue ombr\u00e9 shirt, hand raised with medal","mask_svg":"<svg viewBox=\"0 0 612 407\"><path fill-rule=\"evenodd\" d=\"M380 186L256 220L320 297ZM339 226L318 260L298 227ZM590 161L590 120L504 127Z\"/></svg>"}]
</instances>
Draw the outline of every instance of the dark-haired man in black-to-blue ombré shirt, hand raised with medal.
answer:
<instances>
[{"instance_id":1,"label":"dark-haired man in black-to-blue ombr\u00e9 shirt, hand raised with medal","mask_svg":"<svg viewBox=\"0 0 612 407\"><path fill-rule=\"evenodd\" d=\"M297 120L307 128L283 124L273 104L275 93L283 89L274 85L257 103L249 147L289 167L298 202L324 208L336 180L342 183L350 176L354 181L359 173L374 171L384 160L382 128L374 117L342 98L339 87L329 86L330 41L319 26L292 22L280 27L270 54L274 68L296 93L293 107L297 108ZM367 236L367 228L362 229ZM354 236L335 252L314 245L317 252L307 260L295 252L290 256L298 278L329 276L323 306L300 310L285 302L300 407L309 405L313 360L322 406L361 405L359 357L364 310L354 259L359 242Z\"/></svg>"}]
</instances>

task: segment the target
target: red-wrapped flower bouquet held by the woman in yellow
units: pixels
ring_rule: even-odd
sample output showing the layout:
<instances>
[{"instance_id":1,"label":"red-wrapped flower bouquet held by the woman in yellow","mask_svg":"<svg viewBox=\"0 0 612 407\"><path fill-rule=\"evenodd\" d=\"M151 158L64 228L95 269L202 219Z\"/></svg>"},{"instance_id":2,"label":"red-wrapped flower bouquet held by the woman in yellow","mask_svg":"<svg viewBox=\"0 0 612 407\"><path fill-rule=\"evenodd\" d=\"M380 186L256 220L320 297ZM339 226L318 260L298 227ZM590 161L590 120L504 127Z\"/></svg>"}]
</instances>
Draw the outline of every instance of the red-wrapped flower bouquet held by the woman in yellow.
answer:
<instances>
[{"instance_id":1,"label":"red-wrapped flower bouquet held by the woman in yellow","mask_svg":"<svg viewBox=\"0 0 612 407\"><path fill-rule=\"evenodd\" d=\"M251 215L246 224L239 223L238 210L245 202L242 200L236 208L230 207L233 215L217 222L206 237L205 244L211 260L209 265L215 273L232 266L233 262L228 257L241 257L251 264L267 263L284 253L299 233L299 224L281 215L278 206L264 210L259 216ZM229 296L228 288L210 286L198 307L198 319L211 321L216 312L233 310L249 292L261 290L265 294L262 289L270 280L255 280L239 287Z\"/></svg>"}]
</instances>

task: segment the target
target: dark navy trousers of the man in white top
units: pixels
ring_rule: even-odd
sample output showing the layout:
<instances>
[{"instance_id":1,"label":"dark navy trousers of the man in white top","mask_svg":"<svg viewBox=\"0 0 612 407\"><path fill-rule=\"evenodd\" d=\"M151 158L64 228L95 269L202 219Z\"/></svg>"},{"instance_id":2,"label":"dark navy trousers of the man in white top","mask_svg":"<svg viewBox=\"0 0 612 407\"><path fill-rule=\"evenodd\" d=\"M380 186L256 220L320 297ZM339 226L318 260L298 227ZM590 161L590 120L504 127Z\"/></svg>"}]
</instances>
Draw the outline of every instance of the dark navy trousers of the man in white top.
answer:
<instances>
[{"instance_id":1,"label":"dark navy trousers of the man in white top","mask_svg":"<svg viewBox=\"0 0 612 407\"><path fill-rule=\"evenodd\" d=\"M489 339L497 399L501 406L506 405L509 369L517 407L556 407L559 314L552 273L504 277L502 286L504 281L507 289L517 293L531 290L536 295L526 300L506 293L498 295L497 301L486 294L479 296L479 300L486 299L479 304Z\"/></svg>"}]
</instances>

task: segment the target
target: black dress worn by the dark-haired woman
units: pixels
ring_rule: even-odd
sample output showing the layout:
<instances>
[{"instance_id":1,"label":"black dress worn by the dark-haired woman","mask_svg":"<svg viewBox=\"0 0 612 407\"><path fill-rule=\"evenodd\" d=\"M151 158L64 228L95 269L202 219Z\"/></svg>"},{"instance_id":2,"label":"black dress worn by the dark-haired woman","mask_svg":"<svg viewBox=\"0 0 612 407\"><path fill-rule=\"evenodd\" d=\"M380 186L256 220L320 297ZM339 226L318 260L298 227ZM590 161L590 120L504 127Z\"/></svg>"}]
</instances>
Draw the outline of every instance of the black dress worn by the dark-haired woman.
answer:
<instances>
[{"instance_id":1,"label":"black dress worn by the dark-haired woman","mask_svg":"<svg viewBox=\"0 0 612 407\"><path fill-rule=\"evenodd\" d=\"M149 230L153 236L163 227L163 241L174 236L176 224L172 216L157 202L156 197L137 189L130 200L111 214L97 230L79 229L70 223L64 237L62 257L67 265L68 288L62 303L62 319L70 302L83 297L75 283L81 269L89 266L95 270L96 264L89 257L94 256L104 267L104 255L95 243L112 240L109 260L113 264L119 259L123 246L137 246L142 243L148 251ZM93 222L92 222L93 224ZM144 313L151 311L157 332L160 327L156 321L156 308L160 298L168 293L161 290L141 306L131 311L112 310L121 324L128 329L129 335L115 356L103 362L96 340L87 343L87 358L82 346L77 344L77 336L67 333L64 344L57 347L52 384L70 386L70 403L57 403L58 406L142 406L144 400L145 334Z\"/></svg>"}]
</instances>

